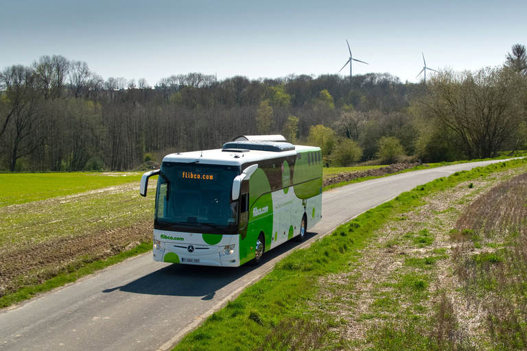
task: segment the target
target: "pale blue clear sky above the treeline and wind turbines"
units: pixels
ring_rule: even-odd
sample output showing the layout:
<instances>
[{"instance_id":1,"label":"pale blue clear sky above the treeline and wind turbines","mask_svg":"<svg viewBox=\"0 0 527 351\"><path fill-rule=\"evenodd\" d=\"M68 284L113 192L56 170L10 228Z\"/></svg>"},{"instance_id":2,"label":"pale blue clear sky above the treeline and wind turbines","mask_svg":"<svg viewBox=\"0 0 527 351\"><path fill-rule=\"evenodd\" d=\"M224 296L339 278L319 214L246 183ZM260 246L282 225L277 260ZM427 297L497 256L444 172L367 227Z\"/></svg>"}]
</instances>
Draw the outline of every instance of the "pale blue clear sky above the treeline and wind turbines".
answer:
<instances>
[{"instance_id":1,"label":"pale blue clear sky above the treeline and wind turbines","mask_svg":"<svg viewBox=\"0 0 527 351\"><path fill-rule=\"evenodd\" d=\"M1 0L0 69L43 55L127 80L200 72L224 80L498 66L527 45L526 0ZM342 69L349 75L349 66ZM430 73L428 73L430 74Z\"/></svg>"}]
</instances>

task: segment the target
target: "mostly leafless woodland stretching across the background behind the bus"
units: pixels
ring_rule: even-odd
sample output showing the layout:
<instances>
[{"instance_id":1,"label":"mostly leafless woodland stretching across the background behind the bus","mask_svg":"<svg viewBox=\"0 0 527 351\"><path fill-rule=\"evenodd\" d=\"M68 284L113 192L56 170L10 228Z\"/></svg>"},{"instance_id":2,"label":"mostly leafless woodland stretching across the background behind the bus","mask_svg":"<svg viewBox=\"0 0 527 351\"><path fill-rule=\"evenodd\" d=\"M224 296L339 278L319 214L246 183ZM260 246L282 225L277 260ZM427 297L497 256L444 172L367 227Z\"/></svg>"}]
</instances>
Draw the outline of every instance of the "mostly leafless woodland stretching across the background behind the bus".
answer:
<instances>
[{"instance_id":1,"label":"mostly leafless woodland stretching across the background behind the bus","mask_svg":"<svg viewBox=\"0 0 527 351\"><path fill-rule=\"evenodd\" d=\"M318 145L329 166L488 158L526 148L526 111L520 44L502 66L443 69L418 84L390 73L187 73L152 87L40 56L0 71L0 171L126 171L244 134Z\"/></svg>"}]
</instances>

